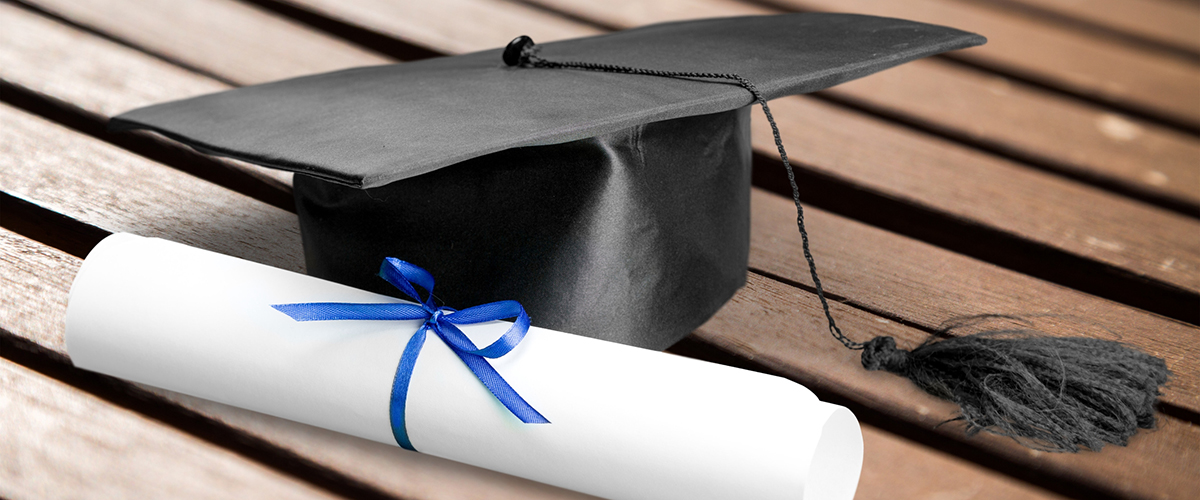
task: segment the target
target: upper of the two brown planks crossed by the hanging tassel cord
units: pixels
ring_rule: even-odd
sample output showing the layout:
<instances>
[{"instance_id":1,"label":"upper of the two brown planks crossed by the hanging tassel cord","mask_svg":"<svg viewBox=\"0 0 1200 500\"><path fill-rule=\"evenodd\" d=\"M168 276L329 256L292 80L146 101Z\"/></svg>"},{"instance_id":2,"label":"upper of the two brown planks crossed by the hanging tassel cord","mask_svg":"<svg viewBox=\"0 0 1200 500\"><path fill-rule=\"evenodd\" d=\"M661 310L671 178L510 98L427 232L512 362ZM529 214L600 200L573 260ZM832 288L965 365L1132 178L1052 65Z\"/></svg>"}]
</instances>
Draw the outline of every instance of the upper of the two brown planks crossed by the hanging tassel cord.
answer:
<instances>
[{"instance_id":1,"label":"upper of the two brown planks crossed by the hanging tassel cord","mask_svg":"<svg viewBox=\"0 0 1200 500\"><path fill-rule=\"evenodd\" d=\"M401 30L412 25L410 31L403 31L408 34L406 40L419 35L416 25L426 20L392 18L376 0L304 0L302 4L336 12L343 22L373 23L373 29ZM500 8L509 4L492 5ZM454 18L457 12L452 8L445 7L436 17ZM539 19L536 25L522 22L505 28L510 32L528 32L544 29L544 23ZM559 32L569 32L576 24L558 19L557 26ZM461 29L458 36L478 48L488 41L475 37L476 28ZM388 34L403 37L400 31ZM580 30L574 35L586 34ZM438 50L454 50L454 47L438 46L438 38L422 43ZM1187 294L1200 293L1200 223L1195 219L1030 170L1015 162L810 97L781 98L772 107L788 149L804 168L887 199L902 200L1104 263L1140 279L1156 281ZM760 114L755 116L758 119ZM755 149L764 155L778 155L766 134L769 128L756 124L755 129ZM934 179L937 182L929 182ZM1049 213L1054 217L1045 216Z\"/></svg>"}]
</instances>

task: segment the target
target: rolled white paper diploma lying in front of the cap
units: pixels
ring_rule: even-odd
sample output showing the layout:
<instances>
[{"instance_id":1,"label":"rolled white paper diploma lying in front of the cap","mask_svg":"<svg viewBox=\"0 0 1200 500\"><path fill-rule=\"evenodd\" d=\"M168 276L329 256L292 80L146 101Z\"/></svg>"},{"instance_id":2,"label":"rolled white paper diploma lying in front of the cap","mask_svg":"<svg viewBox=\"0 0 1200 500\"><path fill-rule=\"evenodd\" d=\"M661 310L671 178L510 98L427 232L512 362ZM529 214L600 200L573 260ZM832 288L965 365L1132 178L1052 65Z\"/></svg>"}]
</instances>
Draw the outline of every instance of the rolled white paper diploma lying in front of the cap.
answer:
<instances>
[{"instance_id":1,"label":"rolled white paper diploma lying in front of the cap","mask_svg":"<svg viewBox=\"0 0 1200 500\"><path fill-rule=\"evenodd\" d=\"M421 321L298 323L270 307L294 302L400 301L115 234L71 288L67 351L80 368L395 445L392 379ZM509 325L462 330L486 345ZM518 421L430 335L406 412L418 451L611 499L857 488L858 421L786 379L539 327L490 362L552 423Z\"/></svg>"}]
</instances>

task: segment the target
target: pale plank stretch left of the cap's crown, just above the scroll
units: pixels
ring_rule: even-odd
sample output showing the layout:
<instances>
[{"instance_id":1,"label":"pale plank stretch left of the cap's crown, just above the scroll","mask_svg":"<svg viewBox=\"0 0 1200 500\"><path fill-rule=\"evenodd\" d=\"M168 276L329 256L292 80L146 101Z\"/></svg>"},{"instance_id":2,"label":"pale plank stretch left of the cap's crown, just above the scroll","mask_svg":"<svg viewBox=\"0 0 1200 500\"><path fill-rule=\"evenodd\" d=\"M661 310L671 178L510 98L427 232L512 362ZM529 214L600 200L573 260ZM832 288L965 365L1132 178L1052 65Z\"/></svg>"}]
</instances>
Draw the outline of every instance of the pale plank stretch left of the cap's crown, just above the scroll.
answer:
<instances>
[{"instance_id":1,"label":"pale plank stretch left of the cap's crown, just above the scroll","mask_svg":"<svg viewBox=\"0 0 1200 500\"><path fill-rule=\"evenodd\" d=\"M295 215L7 106L0 191L101 229L167 237L304 271ZM130 182L136 179L136 182Z\"/></svg>"}]
</instances>

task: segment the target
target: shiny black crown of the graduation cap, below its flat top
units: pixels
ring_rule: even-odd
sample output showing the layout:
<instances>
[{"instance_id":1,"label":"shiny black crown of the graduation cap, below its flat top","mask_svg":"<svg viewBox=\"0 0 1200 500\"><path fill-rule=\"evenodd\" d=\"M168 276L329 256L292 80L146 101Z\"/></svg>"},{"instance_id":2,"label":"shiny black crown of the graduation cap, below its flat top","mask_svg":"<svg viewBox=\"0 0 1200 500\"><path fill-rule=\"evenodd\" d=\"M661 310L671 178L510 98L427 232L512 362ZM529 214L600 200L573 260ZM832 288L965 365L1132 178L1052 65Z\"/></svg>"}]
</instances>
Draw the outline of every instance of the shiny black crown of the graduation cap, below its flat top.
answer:
<instances>
[{"instance_id":1,"label":"shiny black crown of the graduation cap, below its flat top","mask_svg":"<svg viewBox=\"0 0 1200 500\"><path fill-rule=\"evenodd\" d=\"M517 300L533 324L650 349L745 282L750 108L496 152L372 189L296 176L308 273L395 295L384 257L450 307Z\"/></svg>"}]
</instances>

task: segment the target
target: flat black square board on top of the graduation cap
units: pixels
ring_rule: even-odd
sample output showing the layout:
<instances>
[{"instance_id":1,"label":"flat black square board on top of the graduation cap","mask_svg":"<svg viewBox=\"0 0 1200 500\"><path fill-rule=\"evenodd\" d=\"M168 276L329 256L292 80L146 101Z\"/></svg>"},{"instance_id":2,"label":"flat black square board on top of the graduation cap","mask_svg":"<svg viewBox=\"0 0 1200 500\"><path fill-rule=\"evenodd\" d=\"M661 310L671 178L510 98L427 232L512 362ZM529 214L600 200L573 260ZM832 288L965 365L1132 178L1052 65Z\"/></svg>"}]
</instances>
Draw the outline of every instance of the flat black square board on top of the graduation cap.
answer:
<instances>
[{"instance_id":1,"label":"flat black square board on top of the graduation cap","mask_svg":"<svg viewBox=\"0 0 1200 500\"><path fill-rule=\"evenodd\" d=\"M545 43L541 55L738 73L774 98L983 42L978 35L900 19L798 13L658 24ZM496 151L586 139L751 101L728 83L509 67L500 50L156 104L114 118L110 128L149 128L206 152L379 187Z\"/></svg>"}]
</instances>

